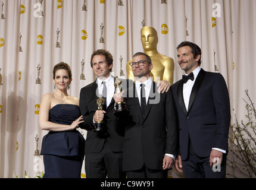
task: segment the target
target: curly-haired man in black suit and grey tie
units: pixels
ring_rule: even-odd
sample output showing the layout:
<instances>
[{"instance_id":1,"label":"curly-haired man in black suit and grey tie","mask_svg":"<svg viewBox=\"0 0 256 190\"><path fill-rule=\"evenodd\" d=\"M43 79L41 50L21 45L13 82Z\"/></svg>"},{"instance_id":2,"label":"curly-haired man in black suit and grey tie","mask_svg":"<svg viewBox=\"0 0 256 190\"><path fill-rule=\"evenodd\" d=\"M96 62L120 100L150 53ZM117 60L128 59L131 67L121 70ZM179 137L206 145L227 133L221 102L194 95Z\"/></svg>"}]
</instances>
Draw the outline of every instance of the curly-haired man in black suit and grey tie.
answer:
<instances>
[{"instance_id":1,"label":"curly-haired man in black suit and grey tie","mask_svg":"<svg viewBox=\"0 0 256 190\"><path fill-rule=\"evenodd\" d=\"M86 129L85 171L86 178L125 178L122 169L123 134L115 129L114 77L110 75L113 57L110 52L99 49L93 52L90 65L97 79L80 91L80 110L84 116L80 128ZM104 110L97 110L96 100L102 94ZM103 132L93 131L96 121L105 122Z\"/></svg>"}]
</instances>

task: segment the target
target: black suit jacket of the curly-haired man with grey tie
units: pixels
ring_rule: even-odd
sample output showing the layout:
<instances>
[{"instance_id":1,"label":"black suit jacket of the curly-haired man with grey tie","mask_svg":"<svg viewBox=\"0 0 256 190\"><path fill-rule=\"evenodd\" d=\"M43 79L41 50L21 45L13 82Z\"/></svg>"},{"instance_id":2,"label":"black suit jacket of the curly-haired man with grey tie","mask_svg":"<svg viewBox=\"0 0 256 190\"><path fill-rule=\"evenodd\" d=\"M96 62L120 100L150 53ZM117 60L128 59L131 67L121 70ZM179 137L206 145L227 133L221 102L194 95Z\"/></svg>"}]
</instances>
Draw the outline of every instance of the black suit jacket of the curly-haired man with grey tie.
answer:
<instances>
[{"instance_id":1,"label":"black suit jacket of the curly-haired man with grey tie","mask_svg":"<svg viewBox=\"0 0 256 190\"><path fill-rule=\"evenodd\" d=\"M121 80L121 79L120 79ZM124 80L123 83L126 83ZM114 83L113 83L114 85ZM96 90L98 84L96 81L86 85L80 91L79 106L83 115L84 122L79 124L80 128L86 129L87 136L85 141L85 153L99 153L104 144L108 142L110 149L113 152L123 151L123 131L118 131L116 125L116 118L114 116L114 99L112 98L110 105L107 109L104 109L107 113L104 115L105 132L93 132L93 115L96 112L98 106L96 100L99 98L96 96Z\"/></svg>"}]
</instances>

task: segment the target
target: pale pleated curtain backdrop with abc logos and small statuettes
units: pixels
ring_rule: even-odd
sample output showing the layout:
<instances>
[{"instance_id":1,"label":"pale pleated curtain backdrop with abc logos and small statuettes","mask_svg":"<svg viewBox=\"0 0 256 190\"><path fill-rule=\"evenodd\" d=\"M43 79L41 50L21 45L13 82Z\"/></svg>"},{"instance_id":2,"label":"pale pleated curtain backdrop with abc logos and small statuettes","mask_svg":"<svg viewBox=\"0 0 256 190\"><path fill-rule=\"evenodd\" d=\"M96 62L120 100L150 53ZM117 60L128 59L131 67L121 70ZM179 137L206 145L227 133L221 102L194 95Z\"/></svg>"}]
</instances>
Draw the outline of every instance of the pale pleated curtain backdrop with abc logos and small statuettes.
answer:
<instances>
[{"instance_id":1,"label":"pale pleated curtain backdrop with abc logos and small statuettes","mask_svg":"<svg viewBox=\"0 0 256 190\"><path fill-rule=\"evenodd\" d=\"M120 77L126 78L126 62L143 52L142 26L157 30L158 52L174 59L174 82L183 74L177 45L198 44L202 68L226 80L232 124L235 114L242 119L244 91L252 100L256 95L250 82L256 81L255 9L254 0L0 0L0 178L23 178L25 171L33 178L43 171L42 156L34 154L47 132L40 130L38 114L43 94L54 90L53 66L71 66L68 93L76 97L95 80L90 55L96 49L109 50L112 74L123 70Z\"/></svg>"}]
</instances>

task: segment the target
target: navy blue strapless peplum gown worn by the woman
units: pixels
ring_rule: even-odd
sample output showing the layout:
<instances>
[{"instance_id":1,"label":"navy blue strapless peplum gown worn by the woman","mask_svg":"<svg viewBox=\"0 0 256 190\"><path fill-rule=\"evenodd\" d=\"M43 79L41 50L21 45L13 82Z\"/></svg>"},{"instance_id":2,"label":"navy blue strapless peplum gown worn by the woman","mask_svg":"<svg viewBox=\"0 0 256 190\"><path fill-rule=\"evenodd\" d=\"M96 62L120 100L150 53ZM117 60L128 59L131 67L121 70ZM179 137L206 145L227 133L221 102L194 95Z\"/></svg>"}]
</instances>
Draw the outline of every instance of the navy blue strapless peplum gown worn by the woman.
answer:
<instances>
[{"instance_id":1,"label":"navy blue strapless peplum gown worn by the woman","mask_svg":"<svg viewBox=\"0 0 256 190\"><path fill-rule=\"evenodd\" d=\"M61 104L49 110L49 121L70 125L79 118L77 105ZM43 137L41 154L45 166L43 178L80 178L85 156L85 139L79 131L49 131Z\"/></svg>"}]
</instances>

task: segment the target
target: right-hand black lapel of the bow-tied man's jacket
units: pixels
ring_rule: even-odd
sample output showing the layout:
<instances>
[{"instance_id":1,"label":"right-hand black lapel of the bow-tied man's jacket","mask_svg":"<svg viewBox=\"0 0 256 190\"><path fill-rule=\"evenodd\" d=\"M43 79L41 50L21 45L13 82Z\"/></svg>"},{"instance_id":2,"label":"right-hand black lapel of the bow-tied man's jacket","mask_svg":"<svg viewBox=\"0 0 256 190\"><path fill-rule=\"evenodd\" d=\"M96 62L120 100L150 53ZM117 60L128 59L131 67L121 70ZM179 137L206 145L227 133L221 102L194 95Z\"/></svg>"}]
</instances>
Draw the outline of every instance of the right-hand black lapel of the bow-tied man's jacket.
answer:
<instances>
[{"instance_id":1,"label":"right-hand black lapel of the bow-tied man's jacket","mask_svg":"<svg viewBox=\"0 0 256 190\"><path fill-rule=\"evenodd\" d=\"M204 80L206 72L204 69L201 68L199 71L198 76L196 77L195 84L193 85L192 91L191 91L191 96L189 97L189 107L188 107L188 112L191 109L193 102L195 101L196 95L198 94L200 85L202 84L202 81Z\"/></svg>"}]
</instances>

